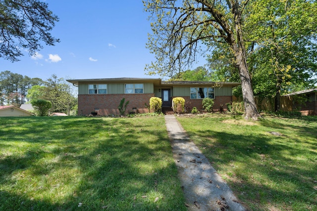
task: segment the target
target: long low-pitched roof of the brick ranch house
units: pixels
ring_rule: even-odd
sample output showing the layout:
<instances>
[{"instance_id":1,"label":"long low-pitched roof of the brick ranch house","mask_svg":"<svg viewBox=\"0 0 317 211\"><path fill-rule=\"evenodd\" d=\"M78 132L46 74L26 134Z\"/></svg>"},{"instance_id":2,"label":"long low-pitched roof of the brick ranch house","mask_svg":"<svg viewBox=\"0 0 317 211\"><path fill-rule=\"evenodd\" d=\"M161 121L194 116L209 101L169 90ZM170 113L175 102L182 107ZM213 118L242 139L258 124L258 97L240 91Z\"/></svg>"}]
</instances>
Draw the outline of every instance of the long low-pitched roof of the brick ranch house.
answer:
<instances>
[{"instance_id":1,"label":"long low-pitched roof of the brick ranch house","mask_svg":"<svg viewBox=\"0 0 317 211\"><path fill-rule=\"evenodd\" d=\"M111 78L111 79L75 79L66 80L76 86L82 83L154 83L155 86L188 86L188 85L210 85L210 86L231 86L235 87L241 83L232 82L203 82L203 81L161 81L153 78Z\"/></svg>"}]
</instances>

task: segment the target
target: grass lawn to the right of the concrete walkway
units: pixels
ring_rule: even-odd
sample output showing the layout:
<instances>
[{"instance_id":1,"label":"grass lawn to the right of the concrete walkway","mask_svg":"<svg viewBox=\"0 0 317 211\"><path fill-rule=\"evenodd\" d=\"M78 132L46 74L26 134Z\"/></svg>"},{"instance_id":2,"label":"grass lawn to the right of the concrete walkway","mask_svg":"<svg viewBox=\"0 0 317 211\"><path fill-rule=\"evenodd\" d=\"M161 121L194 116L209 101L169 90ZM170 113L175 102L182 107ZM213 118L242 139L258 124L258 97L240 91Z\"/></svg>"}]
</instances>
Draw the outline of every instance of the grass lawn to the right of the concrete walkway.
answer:
<instances>
[{"instance_id":1,"label":"grass lawn to the right of the concrete walkway","mask_svg":"<svg viewBox=\"0 0 317 211\"><path fill-rule=\"evenodd\" d=\"M317 211L317 118L177 117L252 211Z\"/></svg>"}]
</instances>

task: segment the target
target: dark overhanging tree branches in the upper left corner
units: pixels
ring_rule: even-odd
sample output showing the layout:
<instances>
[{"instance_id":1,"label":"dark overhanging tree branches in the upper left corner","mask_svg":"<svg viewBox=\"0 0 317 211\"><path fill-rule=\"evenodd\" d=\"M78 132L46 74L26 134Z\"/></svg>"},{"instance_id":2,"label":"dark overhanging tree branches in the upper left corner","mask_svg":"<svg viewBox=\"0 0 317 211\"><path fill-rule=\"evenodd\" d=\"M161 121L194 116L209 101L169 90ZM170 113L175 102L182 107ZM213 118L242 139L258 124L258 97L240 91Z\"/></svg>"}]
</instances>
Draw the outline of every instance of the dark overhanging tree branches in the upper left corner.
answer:
<instances>
[{"instance_id":1,"label":"dark overhanging tree branches in the upper left corner","mask_svg":"<svg viewBox=\"0 0 317 211\"><path fill-rule=\"evenodd\" d=\"M59 42L50 31L58 17L40 0L0 0L0 57L18 61L27 50L30 55L42 48L41 42Z\"/></svg>"}]
</instances>

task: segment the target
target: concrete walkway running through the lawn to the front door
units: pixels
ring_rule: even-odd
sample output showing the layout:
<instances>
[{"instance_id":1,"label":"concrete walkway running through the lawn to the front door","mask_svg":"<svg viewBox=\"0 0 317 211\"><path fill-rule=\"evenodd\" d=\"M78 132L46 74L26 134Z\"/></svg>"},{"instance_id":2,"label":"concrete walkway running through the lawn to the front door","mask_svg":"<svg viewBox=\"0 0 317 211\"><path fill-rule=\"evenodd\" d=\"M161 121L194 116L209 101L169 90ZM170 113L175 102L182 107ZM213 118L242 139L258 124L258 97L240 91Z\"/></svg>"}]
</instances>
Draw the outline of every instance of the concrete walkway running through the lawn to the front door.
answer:
<instances>
[{"instance_id":1,"label":"concrete walkway running through the lawn to the front door","mask_svg":"<svg viewBox=\"0 0 317 211\"><path fill-rule=\"evenodd\" d=\"M174 115L165 115L173 157L189 211L246 211Z\"/></svg>"}]
</instances>

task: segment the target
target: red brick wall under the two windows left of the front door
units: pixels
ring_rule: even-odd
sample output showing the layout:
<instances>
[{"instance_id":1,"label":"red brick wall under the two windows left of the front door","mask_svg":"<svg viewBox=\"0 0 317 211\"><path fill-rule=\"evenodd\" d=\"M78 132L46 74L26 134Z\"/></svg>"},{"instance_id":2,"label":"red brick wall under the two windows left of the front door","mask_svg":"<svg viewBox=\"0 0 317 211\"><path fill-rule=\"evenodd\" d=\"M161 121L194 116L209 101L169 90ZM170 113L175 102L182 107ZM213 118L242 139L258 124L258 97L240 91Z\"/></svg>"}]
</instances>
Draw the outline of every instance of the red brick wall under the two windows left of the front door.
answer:
<instances>
[{"instance_id":1,"label":"red brick wall under the two windows left of the front door","mask_svg":"<svg viewBox=\"0 0 317 211\"><path fill-rule=\"evenodd\" d=\"M122 98L130 101L126 114L137 108L139 113L146 113L148 109L145 107L150 104L150 98L154 94L79 94L78 95L78 115L89 115L98 108L98 115L109 116L119 115L118 105Z\"/></svg>"}]
</instances>

